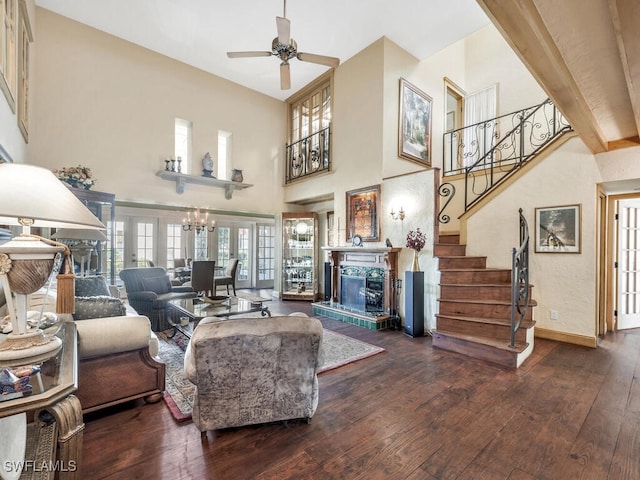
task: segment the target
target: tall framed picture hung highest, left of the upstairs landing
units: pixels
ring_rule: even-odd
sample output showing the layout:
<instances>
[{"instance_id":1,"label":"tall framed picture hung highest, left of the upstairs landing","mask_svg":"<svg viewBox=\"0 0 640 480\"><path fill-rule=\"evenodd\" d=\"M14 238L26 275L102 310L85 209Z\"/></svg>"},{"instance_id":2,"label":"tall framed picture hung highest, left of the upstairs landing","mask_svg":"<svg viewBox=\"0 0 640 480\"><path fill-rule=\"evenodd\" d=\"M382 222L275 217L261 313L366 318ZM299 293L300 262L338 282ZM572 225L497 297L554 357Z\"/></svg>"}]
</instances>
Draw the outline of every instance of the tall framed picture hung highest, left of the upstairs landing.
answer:
<instances>
[{"instance_id":1,"label":"tall framed picture hung highest, left of the upstairs landing","mask_svg":"<svg viewBox=\"0 0 640 480\"><path fill-rule=\"evenodd\" d=\"M431 166L431 104L429 95L400 79L398 156Z\"/></svg>"}]
</instances>

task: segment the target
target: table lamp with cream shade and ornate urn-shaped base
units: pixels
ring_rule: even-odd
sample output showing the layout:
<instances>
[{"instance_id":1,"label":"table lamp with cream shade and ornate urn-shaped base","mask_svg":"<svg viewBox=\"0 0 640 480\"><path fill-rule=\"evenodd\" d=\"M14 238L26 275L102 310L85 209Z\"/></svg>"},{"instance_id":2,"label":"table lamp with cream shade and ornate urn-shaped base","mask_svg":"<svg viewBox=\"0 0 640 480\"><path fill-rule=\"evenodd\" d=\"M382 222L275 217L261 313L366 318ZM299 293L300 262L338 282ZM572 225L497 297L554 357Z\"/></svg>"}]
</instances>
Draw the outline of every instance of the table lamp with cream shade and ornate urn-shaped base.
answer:
<instances>
[{"instance_id":1,"label":"table lamp with cream shade and ornate urn-shaped base","mask_svg":"<svg viewBox=\"0 0 640 480\"><path fill-rule=\"evenodd\" d=\"M0 225L23 227L22 235L0 245L0 283L13 330L0 343L0 365L16 366L50 358L62 344L55 335L27 325L27 297L46 283L56 256L65 248L30 235L30 227L104 230L105 226L45 168L0 164L0 182Z\"/></svg>"}]
</instances>

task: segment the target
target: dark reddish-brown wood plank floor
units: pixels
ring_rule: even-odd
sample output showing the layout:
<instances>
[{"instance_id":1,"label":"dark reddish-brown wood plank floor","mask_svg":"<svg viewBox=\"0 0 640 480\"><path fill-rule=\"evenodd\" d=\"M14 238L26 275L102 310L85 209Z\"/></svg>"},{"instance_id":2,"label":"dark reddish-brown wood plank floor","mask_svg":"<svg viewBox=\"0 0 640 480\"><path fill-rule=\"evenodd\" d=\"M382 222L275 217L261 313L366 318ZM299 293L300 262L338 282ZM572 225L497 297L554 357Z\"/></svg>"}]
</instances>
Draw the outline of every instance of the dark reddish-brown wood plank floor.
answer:
<instances>
[{"instance_id":1,"label":"dark reddish-brown wood plank floor","mask_svg":"<svg viewBox=\"0 0 640 480\"><path fill-rule=\"evenodd\" d=\"M320 375L310 425L201 441L164 402L136 402L85 417L83 478L640 479L639 330L597 349L537 339L510 371L434 349L429 337L323 323L386 352Z\"/></svg>"}]
</instances>

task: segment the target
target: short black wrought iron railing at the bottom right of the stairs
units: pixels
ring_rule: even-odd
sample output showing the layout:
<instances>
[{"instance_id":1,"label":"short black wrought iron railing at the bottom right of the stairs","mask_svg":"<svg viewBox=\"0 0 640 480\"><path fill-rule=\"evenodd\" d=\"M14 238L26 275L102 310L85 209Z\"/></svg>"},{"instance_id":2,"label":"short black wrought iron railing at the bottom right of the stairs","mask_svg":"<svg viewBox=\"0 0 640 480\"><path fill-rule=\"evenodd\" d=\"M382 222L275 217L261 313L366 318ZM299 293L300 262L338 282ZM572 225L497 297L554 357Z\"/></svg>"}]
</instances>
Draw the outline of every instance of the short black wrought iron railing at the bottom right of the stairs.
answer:
<instances>
[{"instance_id":1,"label":"short black wrought iron railing at the bottom right of the stairs","mask_svg":"<svg viewBox=\"0 0 640 480\"><path fill-rule=\"evenodd\" d=\"M516 346L516 333L529 309L529 226L520 213L520 247L511 255L511 338L509 347Z\"/></svg>"}]
</instances>

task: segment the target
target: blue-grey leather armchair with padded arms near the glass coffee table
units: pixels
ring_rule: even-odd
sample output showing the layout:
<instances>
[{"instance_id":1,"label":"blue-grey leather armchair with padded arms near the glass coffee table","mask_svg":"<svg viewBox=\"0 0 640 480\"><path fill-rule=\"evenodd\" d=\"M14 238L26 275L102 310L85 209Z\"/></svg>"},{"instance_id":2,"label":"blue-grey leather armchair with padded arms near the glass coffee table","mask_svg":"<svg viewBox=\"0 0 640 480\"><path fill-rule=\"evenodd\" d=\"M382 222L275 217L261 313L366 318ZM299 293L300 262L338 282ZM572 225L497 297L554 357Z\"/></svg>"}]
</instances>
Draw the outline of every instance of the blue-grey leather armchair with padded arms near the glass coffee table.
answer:
<instances>
[{"instance_id":1,"label":"blue-grey leather armchair with padded arms near the glass coffee table","mask_svg":"<svg viewBox=\"0 0 640 480\"><path fill-rule=\"evenodd\" d=\"M169 310L167 302L196 296L191 287L171 285L171 279L162 267L125 268L120 272L120 278L129 303L140 315L149 318L155 332L171 326L167 316L173 311Z\"/></svg>"}]
</instances>

